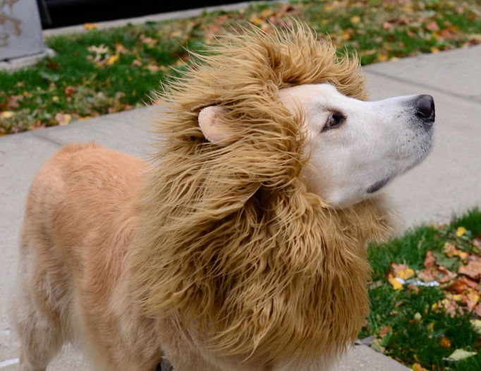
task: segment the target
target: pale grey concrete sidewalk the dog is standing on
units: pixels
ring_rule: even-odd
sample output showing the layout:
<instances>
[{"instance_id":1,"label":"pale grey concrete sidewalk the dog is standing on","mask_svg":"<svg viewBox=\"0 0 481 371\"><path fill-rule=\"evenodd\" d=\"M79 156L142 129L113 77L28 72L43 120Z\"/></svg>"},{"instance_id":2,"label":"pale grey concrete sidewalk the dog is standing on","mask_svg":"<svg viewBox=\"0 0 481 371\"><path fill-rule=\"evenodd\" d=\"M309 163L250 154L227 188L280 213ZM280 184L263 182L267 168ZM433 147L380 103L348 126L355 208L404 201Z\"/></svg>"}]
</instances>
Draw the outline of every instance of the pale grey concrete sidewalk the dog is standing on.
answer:
<instances>
[{"instance_id":1,"label":"pale grey concrete sidewalk the dog is standing on","mask_svg":"<svg viewBox=\"0 0 481 371\"><path fill-rule=\"evenodd\" d=\"M384 191L393 200L401 229L420 222L448 221L453 213L481 206L479 61L481 46L376 64L364 70L372 100L430 94L436 103L432 153ZM137 109L0 138L0 371L18 370L18 341L11 333L6 311L8 296L15 289L18 231L25 196L35 172L61 145L71 141L95 140L147 159L154 138L147 130L155 110ZM49 370L86 368L79 353L66 348ZM366 346L357 346L338 370L407 369Z\"/></svg>"}]
</instances>

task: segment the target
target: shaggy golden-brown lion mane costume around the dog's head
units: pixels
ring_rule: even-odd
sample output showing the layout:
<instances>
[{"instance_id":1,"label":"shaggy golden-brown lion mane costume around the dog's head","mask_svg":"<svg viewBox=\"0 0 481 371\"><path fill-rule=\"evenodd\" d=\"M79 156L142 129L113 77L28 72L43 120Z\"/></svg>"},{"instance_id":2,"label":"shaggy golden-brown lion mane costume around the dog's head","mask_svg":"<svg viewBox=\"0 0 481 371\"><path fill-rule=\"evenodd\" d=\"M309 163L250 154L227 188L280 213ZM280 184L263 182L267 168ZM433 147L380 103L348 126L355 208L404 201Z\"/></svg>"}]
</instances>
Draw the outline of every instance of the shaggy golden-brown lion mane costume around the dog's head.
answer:
<instances>
[{"instance_id":1,"label":"shaggy golden-brown lion mane costume around the dog's head","mask_svg":"<svg viewBox=\"0 0 481 371\"><path fill-rule=\"evenodd\" d=\"M367 315L365 244L388 222L375 200L336 211L300 180L303 118L279 89L310 83L367 97L358 60L297 24L222 37L164 92L130 274L145 314L181 318L212 355L307 362L343 351ZM229 145L202 136L211 105Z\"/></svg>"}]
</instances>

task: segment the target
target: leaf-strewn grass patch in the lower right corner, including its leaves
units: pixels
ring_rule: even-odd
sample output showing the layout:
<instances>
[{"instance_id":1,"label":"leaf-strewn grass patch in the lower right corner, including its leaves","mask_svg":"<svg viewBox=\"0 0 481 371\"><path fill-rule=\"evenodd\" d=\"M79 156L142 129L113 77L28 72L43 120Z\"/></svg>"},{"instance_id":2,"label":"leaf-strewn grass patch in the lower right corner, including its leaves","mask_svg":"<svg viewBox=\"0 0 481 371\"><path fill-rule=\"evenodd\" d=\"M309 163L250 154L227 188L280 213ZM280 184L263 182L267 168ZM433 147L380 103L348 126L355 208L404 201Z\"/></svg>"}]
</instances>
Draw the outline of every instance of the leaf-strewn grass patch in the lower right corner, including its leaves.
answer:
<instances>
[{"instance_id":1,"label":"leaf-strewn grass patch in the lower right corner, including its leaves","mask_svg":"<svg viewBox=\"0 0 481 371\"><path fill-rule=\"evenodd\" d=\"M360 338L414 370L481 370L480 252L480 209L370 246Z\"/></svg>"}]
</instances>

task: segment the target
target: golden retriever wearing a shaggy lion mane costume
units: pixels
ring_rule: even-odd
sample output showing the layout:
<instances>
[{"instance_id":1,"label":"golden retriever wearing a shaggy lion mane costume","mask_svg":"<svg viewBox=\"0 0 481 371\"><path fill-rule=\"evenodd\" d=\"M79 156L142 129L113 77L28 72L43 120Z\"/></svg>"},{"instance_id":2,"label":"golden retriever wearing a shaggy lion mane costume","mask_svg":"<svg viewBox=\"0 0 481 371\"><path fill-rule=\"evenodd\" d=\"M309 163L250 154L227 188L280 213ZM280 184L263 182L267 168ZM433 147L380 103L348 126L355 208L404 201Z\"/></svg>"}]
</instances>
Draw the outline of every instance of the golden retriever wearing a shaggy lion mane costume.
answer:
<instances>
[{"instance_id":1,"label":"golden retriever wearing a shaggy lion mane costume","mask_svg":"<svg viewBox=\"0 0 481 371\"><path fill-rule=\"evenodd\" d=\"M303 25L226 36L164 89L150 164L63 147L28 195L20 370L64 343L95 370L328 370L369 310L376 195L427 154L427 95L365 102Z\"/></svg>"}]
</instances>

